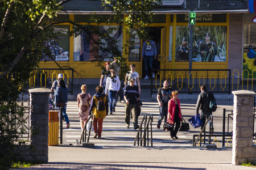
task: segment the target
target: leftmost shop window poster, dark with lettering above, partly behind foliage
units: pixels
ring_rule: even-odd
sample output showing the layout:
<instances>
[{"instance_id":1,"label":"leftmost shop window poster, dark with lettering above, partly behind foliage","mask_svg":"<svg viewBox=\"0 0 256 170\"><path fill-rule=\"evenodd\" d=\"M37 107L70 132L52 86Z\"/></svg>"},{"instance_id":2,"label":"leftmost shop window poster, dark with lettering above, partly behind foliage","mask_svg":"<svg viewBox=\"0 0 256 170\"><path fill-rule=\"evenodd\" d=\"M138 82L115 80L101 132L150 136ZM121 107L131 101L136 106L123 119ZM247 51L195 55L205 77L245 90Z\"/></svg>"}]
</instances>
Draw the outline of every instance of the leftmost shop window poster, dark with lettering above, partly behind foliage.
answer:
<instances>
[{"instance_id":1,"label":"leftmost shop window poster, dark with lettering above, partly behind foliage","mask_svg":"<svg viewBox=\"0 0 256 170\"><path fill-rule=\"evenodd\" d=\"M53 32L57 33L58 39L46 41L49 54L43 53L40 61L69 61L69 31L69 25L53 25Z\"/></svg>"}]
</instances>

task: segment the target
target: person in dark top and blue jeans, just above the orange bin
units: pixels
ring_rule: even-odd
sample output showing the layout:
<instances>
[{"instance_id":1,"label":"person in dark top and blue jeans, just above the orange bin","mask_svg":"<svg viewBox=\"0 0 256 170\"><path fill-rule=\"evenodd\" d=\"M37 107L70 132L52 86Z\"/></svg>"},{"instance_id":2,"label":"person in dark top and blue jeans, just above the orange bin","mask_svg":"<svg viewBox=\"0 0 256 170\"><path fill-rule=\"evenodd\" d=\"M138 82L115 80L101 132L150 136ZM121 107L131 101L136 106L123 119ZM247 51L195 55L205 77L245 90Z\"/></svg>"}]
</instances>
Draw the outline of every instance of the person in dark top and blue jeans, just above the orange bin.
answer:
<instances>
[{"instance_id":1,"label":"person in dark top and blue jeans, just above the orange bin","mask_svg":"<svg viewBox=\"0 0 256 170\"><path fill-rule=\"evenodd\" d=\"M62 114L67 123L66 128L68 129L69 120L68 120L68 115L66 113L67 102L68 102L68 88L66 87L64 80L60 79L58 80L58 87L56 88L55 104L56 104L56 107L62 108Z\"/></svg>"}]
</instances>

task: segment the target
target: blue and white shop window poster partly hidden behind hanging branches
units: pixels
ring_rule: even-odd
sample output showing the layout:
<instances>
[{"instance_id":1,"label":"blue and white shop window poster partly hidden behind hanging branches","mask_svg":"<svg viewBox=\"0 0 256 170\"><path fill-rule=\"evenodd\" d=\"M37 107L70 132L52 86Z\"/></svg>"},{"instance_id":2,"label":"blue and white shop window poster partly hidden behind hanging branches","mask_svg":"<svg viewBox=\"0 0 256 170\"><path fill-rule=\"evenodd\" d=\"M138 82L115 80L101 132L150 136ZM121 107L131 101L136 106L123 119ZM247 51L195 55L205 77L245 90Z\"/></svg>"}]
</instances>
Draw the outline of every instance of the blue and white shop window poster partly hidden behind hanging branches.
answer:
<instances>
[{"instance_id":1,"label":"blue and white shop window poster partly hidden behind hanging branches","mask_svg":"<svg viewBox=\"0 0 256 170\"><path fill-rule=\"evenodd\" d=\"M93 26L92 26L93 27ZM114 37L115 40L118 41L118 49L122 51L122 26L117 25L101 25L102 29L108 29L115 27L114 31L110 35L111 37ZM74 36L74 51L73 51L73 58L74 61L92 61L95 58L96 55L100 55L101 57L105 58L104 61L110 61L110 54L108 52L99 51L95 52L92 51L94 49L94 40L99 39L97 35L91 35L92 38L89 37L89 35L82 31L78 36ZM101 42L105 42L105 40L101 40ZM107 47L106 47L107 48Z\"/></svg>"}]
</instances>

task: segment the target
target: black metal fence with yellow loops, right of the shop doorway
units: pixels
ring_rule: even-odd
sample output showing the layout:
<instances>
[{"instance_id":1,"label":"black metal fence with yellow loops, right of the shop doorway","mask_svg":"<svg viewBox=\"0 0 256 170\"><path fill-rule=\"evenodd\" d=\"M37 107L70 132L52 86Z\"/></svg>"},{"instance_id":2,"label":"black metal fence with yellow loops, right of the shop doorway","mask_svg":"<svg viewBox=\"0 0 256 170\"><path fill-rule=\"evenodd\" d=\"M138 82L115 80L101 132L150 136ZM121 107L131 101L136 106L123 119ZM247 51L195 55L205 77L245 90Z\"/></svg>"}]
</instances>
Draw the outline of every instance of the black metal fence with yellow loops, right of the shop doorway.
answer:
<instances>
[{"instance_id":1,"label":"black metal fence with yellow loops, right of the shop doorway","mask_svg":"<svg viewBox=\"0 0 256 170\"><path fill-rule=\"evenodd\" d=\"M230 69L153 69L155 79L151 79L151 95L156 93L167 79L172 90L180 93L200 93L204 84L208 91L231 94L234 90L255 90L256 80L253 74L242 74L238 70L231 73ZM152 75L152 74L151 74Z\"/></svg>"}]
</instances>

